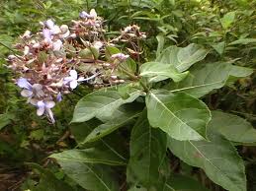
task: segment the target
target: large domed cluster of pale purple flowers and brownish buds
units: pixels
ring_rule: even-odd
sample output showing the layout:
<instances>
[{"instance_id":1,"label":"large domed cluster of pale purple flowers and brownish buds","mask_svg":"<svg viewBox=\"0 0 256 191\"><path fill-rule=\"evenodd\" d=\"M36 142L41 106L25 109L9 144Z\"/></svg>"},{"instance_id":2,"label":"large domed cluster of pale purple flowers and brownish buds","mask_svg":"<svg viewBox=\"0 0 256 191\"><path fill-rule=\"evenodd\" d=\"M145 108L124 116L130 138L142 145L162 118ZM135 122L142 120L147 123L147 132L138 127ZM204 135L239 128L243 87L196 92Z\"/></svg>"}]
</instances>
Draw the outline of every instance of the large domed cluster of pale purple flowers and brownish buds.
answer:
<instances>
[{"instance_id":1,"label":"large domed cluster of pale purple flowers and brownish buds","mask_svg":"<svg viewBox=\"0 0 256 191\"><path fill-rule=\"evenodd\" d=\"M78 85L84 83L94 88L125 83L119 77L119 65L126 62L130 51L139 54L136 42L145 38L135 25L128 26L121 34L106 39L103 19L94 9L79 15L71 27L57 26L52 20L41 22L42 30L30 31L20 36L15 48L20 55L9 55L8 65L18 76L16 84L28 103L37 107L37 114L43 114L54 123L51 108ZM130 42L133 50L128 54L111 54L108 47L119 42Z\"/></svg>"}]
</instances>

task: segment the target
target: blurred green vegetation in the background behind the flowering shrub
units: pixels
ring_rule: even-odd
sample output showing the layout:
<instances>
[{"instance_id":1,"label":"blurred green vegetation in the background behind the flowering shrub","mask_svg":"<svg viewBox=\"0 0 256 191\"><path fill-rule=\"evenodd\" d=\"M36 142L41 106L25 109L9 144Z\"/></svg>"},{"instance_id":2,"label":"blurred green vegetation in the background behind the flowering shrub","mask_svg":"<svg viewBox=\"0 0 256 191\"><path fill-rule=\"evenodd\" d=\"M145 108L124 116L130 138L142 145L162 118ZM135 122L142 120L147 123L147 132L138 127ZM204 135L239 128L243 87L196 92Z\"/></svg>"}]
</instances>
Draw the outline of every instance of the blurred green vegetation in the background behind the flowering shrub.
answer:
<instances>
[{"instance_id":1,"label":"blurred green vegetation in the background behind the flowering shrub","mask_svg":"<svg viewBox=\"0 0 256 191\"><path fill-rule=\"evenodd\" d=\"M98 15L105 18L110 36L111 32L119 32L131 24L137 24L141 32L146 32L148 38L143 52L146 60L165 46L186 46L195 42L210 49L209 60L256 66L255 0L2 0L0 8L0 173L3 168L8 173L18 174L14 178L17 188L30 176L30 170L24 164L28 161L47 165L54 172L56 181L66 180L46 157L53 151L75 146L72 137L68 136L68 123L73 106L87 93L86 89L80 88L72 96L66 96L65 101L54 109L57 119L54 126L38 117L35 109L20 96L13 84L12 72L5 67L5 58L15 51L12 44L16 38L26 30L39 30L39 22L51 18L57 24L69 24L80 11L95 8ZM221 108L256 124L255 82L255 75L252 75L237 81L235 86L215 91L204 100L213 109ZM239 152L248 166L255 167L256 150L253 147L239 148ZM253 191L256 190L256 174L251 167L248 169L248 190ZM219 190L206 179L201 178L212 190ZM24 189L38 180L29 178ZM80 189L70 180L66 182ZM7 180L4 183L11 187ZM7 187L0 186L0 190L5 189Z\"/></svg>"}]
</instances>

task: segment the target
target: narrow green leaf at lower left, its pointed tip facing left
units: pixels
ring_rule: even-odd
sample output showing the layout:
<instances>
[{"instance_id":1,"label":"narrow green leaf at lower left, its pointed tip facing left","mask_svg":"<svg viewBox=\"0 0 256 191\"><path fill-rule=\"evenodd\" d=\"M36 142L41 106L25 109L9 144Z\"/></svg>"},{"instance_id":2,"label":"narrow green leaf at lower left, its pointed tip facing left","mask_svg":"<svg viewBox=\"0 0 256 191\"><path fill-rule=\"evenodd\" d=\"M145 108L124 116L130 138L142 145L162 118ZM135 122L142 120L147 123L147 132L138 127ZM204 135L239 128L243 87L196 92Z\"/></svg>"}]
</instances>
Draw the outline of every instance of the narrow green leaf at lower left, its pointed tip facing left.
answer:
<instances>
[{"instance_id":1,"label":"narrow green leaf at lower left, its pointed tip facing left","mask_svg":"<svg viewBox=\"0 0 256 191\"><path fill-rule=\"evenodd\" d=\"M126 165L126 161L117 156L106 147L90 148L85 150L67 150L53 154L49 158L65 161L78 161L84 163L103 163L108 165Z\"/></svg>"}]
</instances>

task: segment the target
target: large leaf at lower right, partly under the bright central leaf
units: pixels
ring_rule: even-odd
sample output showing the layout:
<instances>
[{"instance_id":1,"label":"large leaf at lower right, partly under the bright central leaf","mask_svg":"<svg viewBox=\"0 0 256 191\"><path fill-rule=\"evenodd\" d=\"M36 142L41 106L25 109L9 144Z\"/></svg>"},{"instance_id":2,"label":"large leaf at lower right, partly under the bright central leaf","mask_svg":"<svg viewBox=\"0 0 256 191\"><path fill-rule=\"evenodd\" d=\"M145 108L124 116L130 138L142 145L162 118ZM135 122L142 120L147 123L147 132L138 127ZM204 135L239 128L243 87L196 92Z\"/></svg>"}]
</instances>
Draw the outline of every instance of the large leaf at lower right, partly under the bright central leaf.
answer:
<instances>
[{"instance_id":1,"label":"large leaf at lower right, partly under the bright central leaf","mask_svg":"<svg viewBox=\"0 0 256 191\"><path fill-rule=\"evenodd\" d=\"M229 141L210 133L209 141L177 141L169 137L171 152L192 166L201 167L216 184L230 191L246 191L243 160Z\"/></svg>"}]
</instances>

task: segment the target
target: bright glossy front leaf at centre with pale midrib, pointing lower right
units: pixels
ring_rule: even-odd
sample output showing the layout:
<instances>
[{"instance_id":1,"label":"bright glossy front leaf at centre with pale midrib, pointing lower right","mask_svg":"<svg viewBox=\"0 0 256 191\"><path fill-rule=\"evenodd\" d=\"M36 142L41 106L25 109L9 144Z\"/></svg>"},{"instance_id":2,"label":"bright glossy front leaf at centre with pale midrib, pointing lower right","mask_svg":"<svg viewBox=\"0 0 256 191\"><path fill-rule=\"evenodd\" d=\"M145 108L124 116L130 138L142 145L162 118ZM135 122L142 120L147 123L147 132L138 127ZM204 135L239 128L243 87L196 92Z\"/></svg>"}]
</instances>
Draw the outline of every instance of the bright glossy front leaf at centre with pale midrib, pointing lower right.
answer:
<instances>
[{"instance_id":1,"label":"bright glossy front leaf at centre with pale midrib, pointing lower right","mask_svg":"<svg viewBox=\"0 0 256 191\"><path fill-rule=\"evenodd\" d=\"M202 140L211 120L208 106L187 94L154 91L146 96L147 117L153 127L159 127L177 140Z\"/></svg>"}]
</instances>

